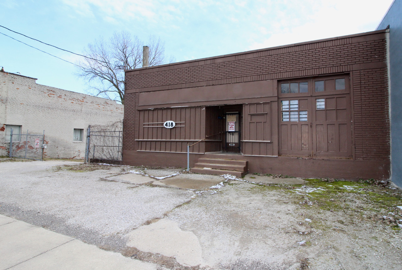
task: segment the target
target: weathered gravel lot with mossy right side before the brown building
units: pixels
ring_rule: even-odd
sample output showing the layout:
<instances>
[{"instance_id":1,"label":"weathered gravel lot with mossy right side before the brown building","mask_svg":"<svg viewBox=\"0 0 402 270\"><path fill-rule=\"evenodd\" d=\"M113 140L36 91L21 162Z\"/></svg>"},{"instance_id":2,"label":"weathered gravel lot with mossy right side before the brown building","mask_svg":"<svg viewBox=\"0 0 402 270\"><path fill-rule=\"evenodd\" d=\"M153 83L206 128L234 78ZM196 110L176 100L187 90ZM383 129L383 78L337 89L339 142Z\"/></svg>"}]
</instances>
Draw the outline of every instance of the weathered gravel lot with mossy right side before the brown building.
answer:
<instances>
[{"instance_id":1,"label":"weathered gravel lot with mossy right side before the brown building","mask_svg":"<svg viewBox=\"0 0 402 270\"><path fill-rule=\"evenodd\" d=\"M59 160L3 160L0 172L0 214L160 269L401 269L402 192L386 183L259 184ZM131 238L158 230L146 248ZM164 234L189 248L173 256Z\"/></svg>"}]
</instances>

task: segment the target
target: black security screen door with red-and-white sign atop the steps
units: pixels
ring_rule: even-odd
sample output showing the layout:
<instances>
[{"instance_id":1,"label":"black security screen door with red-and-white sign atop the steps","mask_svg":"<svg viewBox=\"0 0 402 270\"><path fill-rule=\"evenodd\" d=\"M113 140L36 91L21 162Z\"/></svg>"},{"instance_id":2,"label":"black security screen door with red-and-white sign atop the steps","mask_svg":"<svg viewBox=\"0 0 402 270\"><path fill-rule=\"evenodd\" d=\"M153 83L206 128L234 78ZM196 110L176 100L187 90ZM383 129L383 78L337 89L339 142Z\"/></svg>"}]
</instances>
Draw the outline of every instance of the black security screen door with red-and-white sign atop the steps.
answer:
<instances>
[{"instance_id":1,"label":"black security screen door with red-and-white sign atop the steps","mask_svg":"<svg viewBox=\"0 0 402 270\"><path fill-rule=\"evenodd\" d=\"M226 119L225 152L240 152L240 113L228 112Z\"/></svg>"}]
</instances>

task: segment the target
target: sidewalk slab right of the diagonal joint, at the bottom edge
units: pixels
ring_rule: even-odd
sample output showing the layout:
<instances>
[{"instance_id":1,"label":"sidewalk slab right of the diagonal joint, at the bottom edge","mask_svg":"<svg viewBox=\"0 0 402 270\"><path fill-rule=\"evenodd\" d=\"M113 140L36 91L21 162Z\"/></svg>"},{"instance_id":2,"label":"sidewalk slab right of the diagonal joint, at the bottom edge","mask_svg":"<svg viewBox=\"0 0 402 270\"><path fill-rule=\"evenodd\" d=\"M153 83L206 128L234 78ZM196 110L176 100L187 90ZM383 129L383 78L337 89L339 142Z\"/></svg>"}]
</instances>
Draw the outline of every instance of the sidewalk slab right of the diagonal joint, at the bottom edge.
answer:
<instances>
[{"instance_id":1,"label":"sidewalk slab right of the diagonal joint, at the bottom edge","mask_svg":"<svg viewBox=\"0 0 402 270\"><path fill-rule=\"evenodd\" d=\"M156 270L157 265L124 257L120 253L100 250L80 240L62 246L18 264L13 270L96 269L96 270Z\"/></svg>"}]
</instances>

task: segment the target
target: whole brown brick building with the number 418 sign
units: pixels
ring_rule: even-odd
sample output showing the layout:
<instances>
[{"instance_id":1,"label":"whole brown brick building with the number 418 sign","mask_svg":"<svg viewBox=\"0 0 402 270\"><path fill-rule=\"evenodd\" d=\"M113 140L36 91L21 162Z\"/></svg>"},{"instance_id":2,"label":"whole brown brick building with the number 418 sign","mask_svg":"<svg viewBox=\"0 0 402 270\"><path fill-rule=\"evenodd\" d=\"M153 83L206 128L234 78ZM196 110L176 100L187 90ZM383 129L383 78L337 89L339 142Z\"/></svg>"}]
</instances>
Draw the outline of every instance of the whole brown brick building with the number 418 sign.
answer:
<instances>
[{"instance_id":1,"label":"whole brown brick building with the number 418 sign","mask_svg":"<svg viewBox=\"0 0 402 270\"><path fill-rule=\"evenodd\" d=\"M388 179L387 35L126 71L123 161L185 167L187 144L202 140L191 167L220 158L247 160L250 172Z\"/></svg>"}]
</instances>

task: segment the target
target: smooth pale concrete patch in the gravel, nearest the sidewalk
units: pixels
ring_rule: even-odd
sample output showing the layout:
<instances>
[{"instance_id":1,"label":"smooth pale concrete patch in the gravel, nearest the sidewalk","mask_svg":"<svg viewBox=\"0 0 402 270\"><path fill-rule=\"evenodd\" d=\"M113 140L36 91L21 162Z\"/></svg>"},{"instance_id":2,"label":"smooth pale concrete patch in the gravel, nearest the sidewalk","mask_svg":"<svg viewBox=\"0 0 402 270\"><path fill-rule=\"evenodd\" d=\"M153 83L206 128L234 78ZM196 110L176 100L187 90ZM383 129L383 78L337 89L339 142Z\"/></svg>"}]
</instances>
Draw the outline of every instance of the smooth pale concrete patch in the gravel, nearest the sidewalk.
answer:
<instances>
[{"instance_id":1,"label":"smooth pale concrete patch in the gravel, nearest the sidewalk","mask_svg":"<svg viewBox=\"0 0 402 270\"><path fill-rule=\"evenodd\" d=\"M176 222L169 219L160 219L139 227L127 236L127 246L174 257L179 264L185 266L202 264L202 250L197 236L191 231L182 231Z\"/></svg>"}]
</instances>

